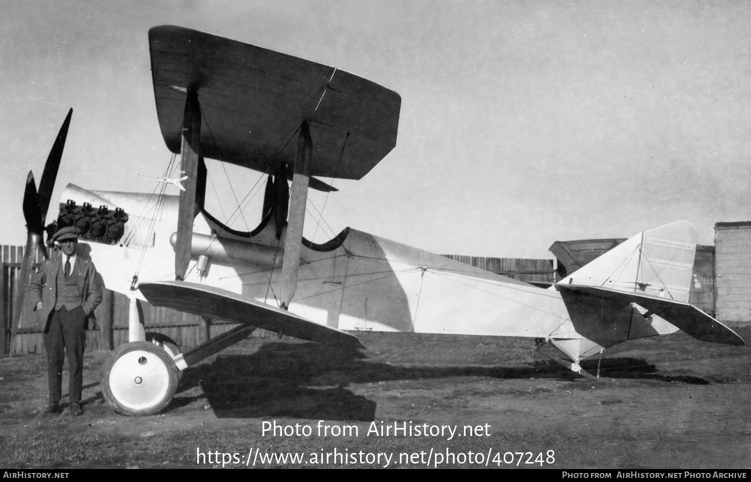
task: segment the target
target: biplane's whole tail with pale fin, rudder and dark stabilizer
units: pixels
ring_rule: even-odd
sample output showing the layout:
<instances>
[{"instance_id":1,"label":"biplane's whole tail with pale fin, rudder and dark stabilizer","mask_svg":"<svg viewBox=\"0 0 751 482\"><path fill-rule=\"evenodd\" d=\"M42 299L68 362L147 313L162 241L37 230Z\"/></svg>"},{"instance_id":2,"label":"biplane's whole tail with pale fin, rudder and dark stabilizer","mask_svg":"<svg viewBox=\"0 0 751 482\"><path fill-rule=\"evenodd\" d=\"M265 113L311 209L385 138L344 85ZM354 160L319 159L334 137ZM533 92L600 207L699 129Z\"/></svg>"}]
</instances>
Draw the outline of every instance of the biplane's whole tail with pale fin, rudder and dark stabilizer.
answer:
<instances>
[{"instance_id":1,"label":"biplane's whole tail with pale fin, rudder and dark stabilizer","mask_svg":"<svg viewBox=\"0 0 751 482\"><path fill-rule=\"evenodd\" d=\"M570 318L550 342L576 368L617 343L679 329L698 340L743 345L734 331L689 304L695 249L696 228L674 221L640 232L559 281L554 288Z\"/></svg>"}]
</instances>

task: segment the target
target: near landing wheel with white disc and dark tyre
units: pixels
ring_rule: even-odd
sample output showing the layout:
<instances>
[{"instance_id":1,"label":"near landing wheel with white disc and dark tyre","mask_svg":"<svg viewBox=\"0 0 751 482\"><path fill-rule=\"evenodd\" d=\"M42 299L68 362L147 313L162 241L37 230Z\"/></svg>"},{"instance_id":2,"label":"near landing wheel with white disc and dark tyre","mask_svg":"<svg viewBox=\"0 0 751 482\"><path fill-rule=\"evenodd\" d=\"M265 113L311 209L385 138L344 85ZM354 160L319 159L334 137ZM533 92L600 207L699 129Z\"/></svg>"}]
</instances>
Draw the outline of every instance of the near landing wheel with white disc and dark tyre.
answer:
<instances>
[{"instance_id":1,"label":"near landing wheel with white disc and dark tyre","mask_svg":"<svg viewBox=\"0 0 751 482\"><path fill-rule=\"evenodd\" d=\"M172 357L154 343L125 343L101 370L104 400L123 415L153 415L167 408L177 390Z\"/></svg>"}]
</instances>

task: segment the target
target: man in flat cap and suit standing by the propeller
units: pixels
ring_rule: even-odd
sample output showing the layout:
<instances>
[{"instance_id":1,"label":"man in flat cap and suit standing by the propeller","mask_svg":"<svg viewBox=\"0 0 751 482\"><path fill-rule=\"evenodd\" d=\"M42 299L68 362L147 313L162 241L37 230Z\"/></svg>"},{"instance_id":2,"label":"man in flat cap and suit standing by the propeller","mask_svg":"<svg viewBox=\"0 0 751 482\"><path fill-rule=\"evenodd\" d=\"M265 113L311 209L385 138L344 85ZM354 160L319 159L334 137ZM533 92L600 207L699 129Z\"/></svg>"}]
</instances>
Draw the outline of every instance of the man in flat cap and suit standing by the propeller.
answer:
<instances>
[{"instance_id":1,"label":"man in flat cap and suit standing by the propeller","mask_svg":"<svg viewBox=\"0 0 751 482\"><path fill-rule=\"evenodd\" d=\"M94 263L76 255L79 230L73 226L59 229L52 239L57 241L62 256L47 259L32 276L29 296L34 310L46 320L44 349L47 350L47 378L50 405L47 413L60 411L62 365L68 352L68 394L71 415L83 415L83 349L86 346L86 319L101 301Z\"/></svg>"}]
</instances>

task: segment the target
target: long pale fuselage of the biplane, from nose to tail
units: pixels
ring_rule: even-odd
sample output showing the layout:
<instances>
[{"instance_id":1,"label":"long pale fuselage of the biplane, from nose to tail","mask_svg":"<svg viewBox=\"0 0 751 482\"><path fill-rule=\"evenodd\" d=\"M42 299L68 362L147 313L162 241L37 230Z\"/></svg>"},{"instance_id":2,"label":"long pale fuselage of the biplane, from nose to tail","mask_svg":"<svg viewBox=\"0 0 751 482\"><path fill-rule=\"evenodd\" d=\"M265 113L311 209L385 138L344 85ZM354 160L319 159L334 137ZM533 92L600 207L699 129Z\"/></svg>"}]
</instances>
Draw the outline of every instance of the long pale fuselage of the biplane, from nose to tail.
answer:
<instances>
[{"instance_id":1,"label":"long pale fuselage of the biplane, from nose to tail","mask_svg":"<svg viewBox=\"0 0 751 482\"><path fill-rule=\"evenodd\" d=\"M77 205L89 202L110 210L122 208L128 214L116 244L86 239L80 243L83 255L95 262L108 289L145 299L131 286L175 279L178 196L164 196L157 203L146 194L88 191L68 185L63 201L68 199ZM198 214L185 281L279 306L284 234L277 239L271 223L251 233L235 232L208 214ZM585 352L591 355L597 348L638 337L636 331L624 328L632 324L631 311L588 310L586 300L579 305L581 313L572 322L572 302L556 289L541 289L348 228L326 244L303 243L297 292L289 311L342 330L586 338L590 348L576 354L582 357L587 356ZM585 323L583 330L576 326L582 316L599 322ZM658 333L644 335L649 334Z\"/></svg>"}]
</instances>

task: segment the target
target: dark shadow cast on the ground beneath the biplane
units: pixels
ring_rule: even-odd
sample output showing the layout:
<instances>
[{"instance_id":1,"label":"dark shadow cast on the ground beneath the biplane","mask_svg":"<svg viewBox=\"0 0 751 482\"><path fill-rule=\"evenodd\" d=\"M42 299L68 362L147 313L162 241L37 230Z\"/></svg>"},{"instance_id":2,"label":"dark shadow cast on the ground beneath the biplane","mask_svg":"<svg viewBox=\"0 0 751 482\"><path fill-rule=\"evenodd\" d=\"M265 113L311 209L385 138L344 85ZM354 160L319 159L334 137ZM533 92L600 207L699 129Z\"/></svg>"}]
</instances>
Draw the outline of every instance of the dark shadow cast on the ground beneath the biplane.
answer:
<instances>
[{"instance_id":1,"label":"dark shadow cast on the ground beneath the biplane","mask_svg":"<svg viewBox=\"0 0 751 482\"><path fill-rule=\"evenodd\" d=\"M596 373L597 360L582 365ZM689 376L660 376L652 364L635 358L605 358L600 375L609 379L650 379L707 384ZM430 380L448 377L494 379L557 379L580 376L552 361L520 362L517 367L415 367L369 361L360 352L318 343L266 343L252 355L224 355L211 364L185 370L172 407L197 397L179 393L200 385L219 418L291 417L372 421L376 404L354 394L351 383Z\"/></svg>"}]
</instances>

